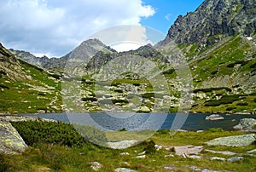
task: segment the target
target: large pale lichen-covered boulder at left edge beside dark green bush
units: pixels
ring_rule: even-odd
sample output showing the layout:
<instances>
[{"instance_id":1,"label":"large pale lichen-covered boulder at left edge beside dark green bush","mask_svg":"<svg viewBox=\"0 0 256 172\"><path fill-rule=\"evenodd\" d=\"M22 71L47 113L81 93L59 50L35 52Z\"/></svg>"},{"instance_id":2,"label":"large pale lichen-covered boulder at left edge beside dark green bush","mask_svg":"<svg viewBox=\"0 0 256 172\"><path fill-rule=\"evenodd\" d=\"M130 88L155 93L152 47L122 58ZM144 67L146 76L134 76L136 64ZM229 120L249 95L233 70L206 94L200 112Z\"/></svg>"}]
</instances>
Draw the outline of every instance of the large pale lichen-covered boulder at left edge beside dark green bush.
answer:
<instances>
[{"instance_id":1,"label":"large pale lichen-covered boulder at left edge beside dark green bush","mask_svg":"<svg viewBox=\"0 0 256 172\"><path fill-rule=\"evenodd\" d=\"M26 150L26 143L7 120L0 120L0 153L20 154Z\"/></svg>"}]
</instances>

